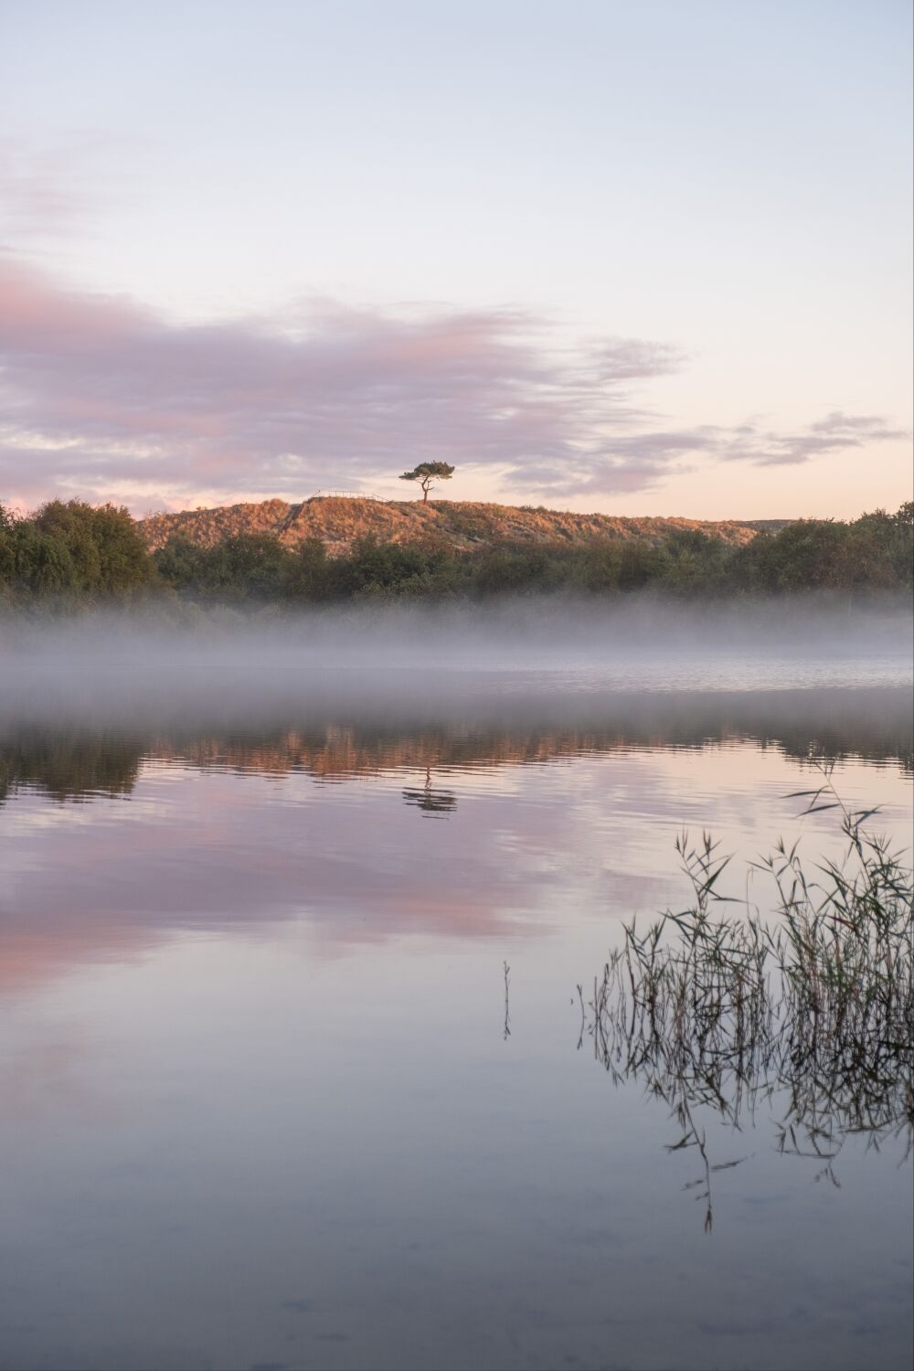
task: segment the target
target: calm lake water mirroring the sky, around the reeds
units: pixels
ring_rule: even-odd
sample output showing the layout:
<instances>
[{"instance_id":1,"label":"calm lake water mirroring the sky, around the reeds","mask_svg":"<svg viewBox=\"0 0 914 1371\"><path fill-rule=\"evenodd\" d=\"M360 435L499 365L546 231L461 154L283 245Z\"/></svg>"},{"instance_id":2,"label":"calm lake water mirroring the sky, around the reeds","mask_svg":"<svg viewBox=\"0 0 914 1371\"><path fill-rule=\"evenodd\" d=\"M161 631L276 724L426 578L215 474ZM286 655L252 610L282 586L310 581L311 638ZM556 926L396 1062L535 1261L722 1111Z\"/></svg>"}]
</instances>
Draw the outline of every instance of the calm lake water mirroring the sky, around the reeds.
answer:
<instances>
[{"instance_id":1,"label":"calm lake water mirroring the sky, around the reeds","mask_svg":"<svg viewBox=\"0 0 914 1371\"><path fill-rule=\"evenodd\" d=\"M0 716L1 1367L910 1364L910 1130L706 1109L708 1230L577 991L814 758L909 846L910 665L106 688Z\"/></svg>"}]
</instances>

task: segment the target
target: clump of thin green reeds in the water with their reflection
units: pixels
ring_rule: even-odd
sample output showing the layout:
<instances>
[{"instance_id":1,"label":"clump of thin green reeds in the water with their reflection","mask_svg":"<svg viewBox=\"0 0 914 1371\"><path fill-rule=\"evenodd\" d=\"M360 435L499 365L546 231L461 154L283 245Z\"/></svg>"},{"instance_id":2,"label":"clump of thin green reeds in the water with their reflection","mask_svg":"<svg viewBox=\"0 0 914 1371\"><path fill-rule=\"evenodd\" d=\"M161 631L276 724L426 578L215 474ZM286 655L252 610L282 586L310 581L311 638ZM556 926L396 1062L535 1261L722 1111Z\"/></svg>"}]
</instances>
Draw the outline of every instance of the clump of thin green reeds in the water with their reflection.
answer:
<instances>
[{"instance_id":1,"label":"clump of thin green reeds in the water with their reflection","mask_svg":"<svg viewBox=\"0 0 914 1371\"><path fill-rule=\"evenodd\" d=\"M700 1152L708 1228L721 1168L708 1163L699 1106L739 1127L759 1102L785 1100L781 1150L819 1157L832 1179L848 1134L902 1137L909 1152L914 1138L911 873L865 827L873 810L841 805L828 771L802 794L807 813L840 813L841 862L813 873L796 846L778 843L756 864L773 877L777 917L715 919L729 858L707 834L699 845L682 835L692 906L644 932L629 924L589 1006L578 987L581 1041L592 1035L614 1080L641 1080L667 1102L682 1128L676 1148Z\"/></svg>"}]
</instances>

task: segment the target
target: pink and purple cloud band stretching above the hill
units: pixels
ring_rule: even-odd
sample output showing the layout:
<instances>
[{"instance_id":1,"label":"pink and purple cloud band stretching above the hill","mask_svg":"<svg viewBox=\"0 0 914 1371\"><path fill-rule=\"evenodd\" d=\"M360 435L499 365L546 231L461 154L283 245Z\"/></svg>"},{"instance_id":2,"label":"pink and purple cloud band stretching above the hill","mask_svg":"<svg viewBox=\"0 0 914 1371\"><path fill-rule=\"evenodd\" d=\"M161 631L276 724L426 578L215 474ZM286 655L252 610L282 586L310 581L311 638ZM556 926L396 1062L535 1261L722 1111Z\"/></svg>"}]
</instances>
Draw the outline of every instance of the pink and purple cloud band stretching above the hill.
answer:
<instances>
[{"instance_id":1,"label":"pink and purple cloud band stretching above the hill","mask_svg":"<svg viewBox=\"0 0 914 1371\"><path fill-rule=\"evenodd\" d=\"M421 459L596 496L656 485L702 455L795 463L900 436L839 413L793 435L655 429L633 396L681 362L640 339L569 351L512 310L312 300L281 319L175 324L0 258L0 499L301 498Z\"/></svg>"}]
</instances>

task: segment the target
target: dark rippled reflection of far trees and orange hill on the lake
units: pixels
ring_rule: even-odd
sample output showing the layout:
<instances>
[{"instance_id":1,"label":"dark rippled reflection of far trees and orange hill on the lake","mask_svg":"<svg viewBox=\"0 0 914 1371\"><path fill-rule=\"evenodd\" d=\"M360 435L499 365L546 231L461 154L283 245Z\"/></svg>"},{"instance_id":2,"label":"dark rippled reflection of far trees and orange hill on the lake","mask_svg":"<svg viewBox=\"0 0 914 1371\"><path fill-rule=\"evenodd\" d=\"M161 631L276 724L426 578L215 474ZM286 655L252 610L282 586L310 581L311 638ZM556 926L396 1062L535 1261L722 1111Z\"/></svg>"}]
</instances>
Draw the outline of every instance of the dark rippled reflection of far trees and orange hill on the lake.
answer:
<instances>
[{"instance_id":1,"label":"dark rippled reflection of far trees and orange hill on the lake","mask_svg":"<svg viewBox=\"0 0 914 1371\"><path fill-rule=\"evenodd\" d=\"M252 723L125 721L118 728L7 723L0 735L0 801L34 786L69 801L129 794L145 757L204 769L315 779L426 772L425 787L404 798L425 813L454 805L432 787L434 769L525 765L581 753L697 749L747 739L793 758L902 762L910 768L913 728L904 691L782 691L759 695L613 695L559 699L455 701L436 717L400 721L396 705L374 714L352 707L311 710ZM10 716L7 716L10 718Z\"/></svg>"}]
</instances>

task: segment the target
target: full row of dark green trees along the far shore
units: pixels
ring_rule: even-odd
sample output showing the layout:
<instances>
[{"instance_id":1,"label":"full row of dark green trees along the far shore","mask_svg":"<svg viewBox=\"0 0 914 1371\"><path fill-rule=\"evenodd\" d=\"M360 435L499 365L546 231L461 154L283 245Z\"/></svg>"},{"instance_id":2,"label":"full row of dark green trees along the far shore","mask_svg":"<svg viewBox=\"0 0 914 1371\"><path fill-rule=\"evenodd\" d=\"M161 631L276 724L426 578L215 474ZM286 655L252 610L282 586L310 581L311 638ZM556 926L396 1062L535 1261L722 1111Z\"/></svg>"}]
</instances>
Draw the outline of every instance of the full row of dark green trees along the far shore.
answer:
<instances>
[{"instance_id":1,"label":"full row of dark green trees along the far shore","mask_svg":"<svg viewBox=\"0 0 914 1371\"><path fill-rule=\"evenodd\" d=\"M851 522L800 520L733 547L700 531L662 544L623 539L444 543L356 539L329 557L319 539L286 548L243 533L214 547L173 537L151 554L125 509L52 500L29 518L0 507L0 596L8 603L173 595L197 602L333 603L354 599L485 599L504 594L667 595L904 590L914 580L914 503Z\"/></svg>"}]
</instances>

